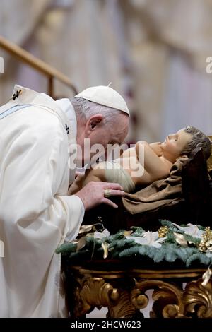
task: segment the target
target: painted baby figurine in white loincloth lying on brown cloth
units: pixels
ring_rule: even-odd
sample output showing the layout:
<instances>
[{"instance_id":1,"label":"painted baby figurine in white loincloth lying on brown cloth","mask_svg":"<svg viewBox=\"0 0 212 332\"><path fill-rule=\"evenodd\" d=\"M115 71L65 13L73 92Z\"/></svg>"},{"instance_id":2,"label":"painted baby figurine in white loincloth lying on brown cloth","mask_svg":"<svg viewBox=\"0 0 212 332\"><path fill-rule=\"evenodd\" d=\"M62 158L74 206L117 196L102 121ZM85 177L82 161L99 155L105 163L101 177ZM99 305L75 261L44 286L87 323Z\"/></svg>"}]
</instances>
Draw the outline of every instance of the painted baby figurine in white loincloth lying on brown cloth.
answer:
<instances>
[{"instance_id":1,"label":"painted baby figurine in white loincloth lying on brown cloth","mask_svg":"<svg viewBox=\"0 0 212 332\"><path fill-rule=\"evenodd\" d=\"M177 158L189 157L196 147L203 149L206 160L210 157L211 141L193 126L168 135L163 143L138 141L134 148L125 150L120 158L100 162L87 170L83 177L73 183L71 194L90 181L119 183L125 192L134 192L136 186L147 186L155 180L168 177Z\"/></svg>"}]
</instances>

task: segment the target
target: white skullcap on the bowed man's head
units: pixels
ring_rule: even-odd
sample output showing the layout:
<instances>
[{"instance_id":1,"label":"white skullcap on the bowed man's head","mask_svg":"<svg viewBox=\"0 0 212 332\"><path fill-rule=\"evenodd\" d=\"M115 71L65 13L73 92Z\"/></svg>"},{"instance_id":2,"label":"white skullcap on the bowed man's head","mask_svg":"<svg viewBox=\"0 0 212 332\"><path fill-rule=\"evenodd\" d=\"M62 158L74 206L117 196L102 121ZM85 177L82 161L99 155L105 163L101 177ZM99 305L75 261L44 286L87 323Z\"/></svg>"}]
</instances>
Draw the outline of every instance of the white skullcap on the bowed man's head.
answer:
<instances>
[{"instance_id":1,"label":"white skullcap on the bowed man's head","mask_svg":"<svg viewBox=\"0 0 212 332\"><path fill-rule=\"evenodd\" d=\"M93 86L74 96L74 98L77 97L90 100L90 102L97 102L100 105L119 109L120 111L129 115L129 109L124 98L119 95L117 91L110 88L110 86Z\"/></svg>"}]
</instances>

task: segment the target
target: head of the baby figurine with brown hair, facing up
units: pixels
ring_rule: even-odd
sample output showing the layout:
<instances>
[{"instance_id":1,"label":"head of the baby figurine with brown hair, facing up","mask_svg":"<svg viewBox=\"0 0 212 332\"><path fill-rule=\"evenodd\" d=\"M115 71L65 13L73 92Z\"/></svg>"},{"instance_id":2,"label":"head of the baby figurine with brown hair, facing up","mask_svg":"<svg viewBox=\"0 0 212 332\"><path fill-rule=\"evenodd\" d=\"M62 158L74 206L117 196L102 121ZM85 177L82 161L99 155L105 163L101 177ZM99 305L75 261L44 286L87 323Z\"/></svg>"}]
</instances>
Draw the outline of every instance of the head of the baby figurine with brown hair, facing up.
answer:
<instances>
[{"instance_id":1,"label":"head of the baby figurine with brown hair, facing up","mask_svg":"<svg viewBox=\"0 0 212 332\"><path fill-rule=\"evenodd\" d=\"M196 147L202 148L206 160L211 155L211 141L194 126L187 126L177 131L176 134L168 135L161 147L164 157L170 162L175 162L181 155L189 157Z\"/></svg>"}]
</instances>

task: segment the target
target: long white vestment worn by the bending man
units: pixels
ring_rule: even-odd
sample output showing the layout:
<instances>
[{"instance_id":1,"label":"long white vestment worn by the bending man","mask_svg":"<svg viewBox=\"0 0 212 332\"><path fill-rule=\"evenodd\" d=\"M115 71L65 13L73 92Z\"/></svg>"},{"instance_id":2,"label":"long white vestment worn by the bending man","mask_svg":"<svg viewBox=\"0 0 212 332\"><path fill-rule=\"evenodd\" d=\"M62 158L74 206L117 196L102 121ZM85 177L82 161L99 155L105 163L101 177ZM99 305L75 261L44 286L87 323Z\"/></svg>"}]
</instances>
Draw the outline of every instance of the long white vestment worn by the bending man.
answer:
<instances>
[{"instance_id":1,"label":"long white vestment worn by the bending man","mask_svg":"<svg viewBox=\"0 0 212 332\"><path fill-rule=\"evenodd\" d=\"M13 94L0 107L0 316L66 316L54 251L76 237L84 215L81 199L67 196L76 116L69 100L18 85ZM6 113L16 105L29 106Z\"/></svg>"}]
</instances>

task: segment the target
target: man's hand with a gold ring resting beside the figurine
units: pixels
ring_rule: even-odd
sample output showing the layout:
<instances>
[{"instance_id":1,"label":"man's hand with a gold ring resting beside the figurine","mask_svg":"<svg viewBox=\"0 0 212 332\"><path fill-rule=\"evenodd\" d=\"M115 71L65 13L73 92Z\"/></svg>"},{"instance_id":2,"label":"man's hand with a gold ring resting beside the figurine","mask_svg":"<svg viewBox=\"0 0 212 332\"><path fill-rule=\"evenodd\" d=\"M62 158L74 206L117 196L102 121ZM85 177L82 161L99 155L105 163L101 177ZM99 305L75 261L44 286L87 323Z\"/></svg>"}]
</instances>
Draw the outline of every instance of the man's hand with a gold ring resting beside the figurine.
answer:
<instances>
[{"instance_id":1,"label":"man's hand with a gold ring resting beside the figurine","mask_svg":"<svg viewBox=\"0 0 212 332\"><path fill-rule=\"evenodd\" d=\"M81 198L85 210L94 208L95 206L98 206L99 204L102 203L110 205L113 208L117 208L118 207L117 204L110 201L110 199L105 198L104 196L105 189L111 190L110 196L124 196L125 194L120 184L91 181L88 184L86 184L86 186L84 186L83 189L78 191L75 195Z\"/></svg>"}]
</instances>

